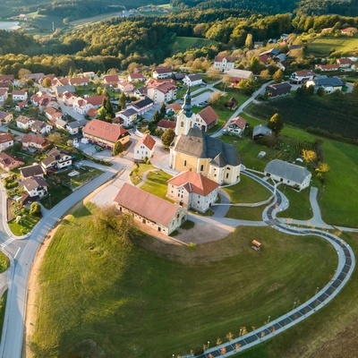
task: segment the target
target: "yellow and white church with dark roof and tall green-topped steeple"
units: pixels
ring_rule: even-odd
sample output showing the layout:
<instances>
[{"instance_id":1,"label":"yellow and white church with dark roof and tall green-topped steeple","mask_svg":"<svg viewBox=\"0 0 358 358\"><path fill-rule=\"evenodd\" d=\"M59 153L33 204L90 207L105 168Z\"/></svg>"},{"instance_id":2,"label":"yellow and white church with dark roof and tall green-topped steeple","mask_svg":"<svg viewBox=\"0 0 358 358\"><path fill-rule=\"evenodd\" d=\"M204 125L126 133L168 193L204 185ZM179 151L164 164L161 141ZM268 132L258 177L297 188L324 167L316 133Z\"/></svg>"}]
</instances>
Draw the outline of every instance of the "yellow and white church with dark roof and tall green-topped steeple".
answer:
<instances>
[{"instance_id":1,"label":"yellow and white church with dark roof and tall green-topped steeple","mask_svg":"<svg viewBox=\"0 0 358 358\"><path fill-rule=\"evenodd\" d=\"M234 146L206 135L195 123L189 88L182 111L176 117L170 167L178 171L192 170L220 185L240 182L241 158Z\"/></svg>"}]
</instances>

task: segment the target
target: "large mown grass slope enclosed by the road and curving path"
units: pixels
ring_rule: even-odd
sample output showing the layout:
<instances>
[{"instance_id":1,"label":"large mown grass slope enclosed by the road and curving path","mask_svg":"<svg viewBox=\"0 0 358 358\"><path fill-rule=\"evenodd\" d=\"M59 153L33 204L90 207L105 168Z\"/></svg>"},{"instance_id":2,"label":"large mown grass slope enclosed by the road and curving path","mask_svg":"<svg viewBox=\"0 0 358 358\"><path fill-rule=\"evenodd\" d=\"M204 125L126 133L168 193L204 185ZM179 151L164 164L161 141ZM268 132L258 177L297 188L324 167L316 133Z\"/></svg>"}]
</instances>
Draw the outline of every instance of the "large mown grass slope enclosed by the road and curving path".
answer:
<instances>
[{"instance_id":1,"label":"large mown grass slope enclosed by the road and curving path","mask_svg":"<svg viewBox=\"0 0 358 358\"><path fill-rule=\"evenodd\" d=\"M241 227L195 249L144 234L124 244L113 229L98 229L92 212L81 207L65 218L41 264L29 342L37 357L83 356L93 345L98 355L86 356L189 353L285 314L337 265L336 251L320 238L270 227ZM251 249L252 239L262 251Z\"/></svg>"}]
</instances>

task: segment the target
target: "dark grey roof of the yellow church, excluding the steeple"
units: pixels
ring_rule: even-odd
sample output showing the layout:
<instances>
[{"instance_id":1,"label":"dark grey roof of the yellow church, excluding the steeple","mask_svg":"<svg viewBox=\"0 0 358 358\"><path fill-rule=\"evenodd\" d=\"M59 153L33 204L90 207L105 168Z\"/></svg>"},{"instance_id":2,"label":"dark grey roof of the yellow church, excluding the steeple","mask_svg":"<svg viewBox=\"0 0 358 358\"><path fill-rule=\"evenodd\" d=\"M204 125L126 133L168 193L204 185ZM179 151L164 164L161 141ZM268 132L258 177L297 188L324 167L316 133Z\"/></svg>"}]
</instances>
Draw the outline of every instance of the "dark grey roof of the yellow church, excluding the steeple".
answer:
<instances>
[{"instance_id":1,"label":"dark grey roof of the yellow church, excluding the steeple","mask_svg":"<svg viewBox=\"0 0 358 358\"><path fill-rule=\"evenodd\" d=\"M176 138L174 149L195 158L211 158L212 164L219 167L241 164L241 158L233 145L205 135L196 125L187 135L181 134Z\"/></svg>"}]
</instances>

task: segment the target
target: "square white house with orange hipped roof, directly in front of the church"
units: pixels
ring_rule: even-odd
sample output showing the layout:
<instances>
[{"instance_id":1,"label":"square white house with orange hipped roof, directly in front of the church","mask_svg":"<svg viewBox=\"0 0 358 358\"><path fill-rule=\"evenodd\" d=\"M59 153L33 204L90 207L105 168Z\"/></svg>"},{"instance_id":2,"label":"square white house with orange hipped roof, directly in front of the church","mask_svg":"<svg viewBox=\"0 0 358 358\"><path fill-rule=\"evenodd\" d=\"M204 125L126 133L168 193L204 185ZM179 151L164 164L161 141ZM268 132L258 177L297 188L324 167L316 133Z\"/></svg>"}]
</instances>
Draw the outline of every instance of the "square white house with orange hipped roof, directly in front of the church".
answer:
<instances>
[{"instance_id":1,"label":"square white house with orange hipped roof, directly in front of the church","mask_svg":"<svg viewBox=\"0 0 358 358\"><path fill-rule=\"evenodd\" d=\"M191 170L167 182L166 196L185 209L206 212L217 201L219 184Z\"/></svg>"}]
</instances>

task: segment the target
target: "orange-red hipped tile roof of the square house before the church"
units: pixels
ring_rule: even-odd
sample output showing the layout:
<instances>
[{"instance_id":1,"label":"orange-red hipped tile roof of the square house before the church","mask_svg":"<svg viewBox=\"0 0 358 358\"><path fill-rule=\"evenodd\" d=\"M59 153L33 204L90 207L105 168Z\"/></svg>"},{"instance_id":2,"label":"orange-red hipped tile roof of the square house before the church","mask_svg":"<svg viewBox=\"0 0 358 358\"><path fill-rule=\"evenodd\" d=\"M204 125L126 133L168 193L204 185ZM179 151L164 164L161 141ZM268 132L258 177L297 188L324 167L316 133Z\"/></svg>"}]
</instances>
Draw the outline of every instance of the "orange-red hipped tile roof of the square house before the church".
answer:
<instances>
[{"instance_id":1,"label":"orange-red hipped tile roof of the square house before the church","mask_svg":"<svg viewBox=\"0 0 358 358\"><path fill-rule=\"evenodd\" d=\"M169 179L168 184L175 186L186 186L189 192L207 196L210 192L214 192L220 185L200 173L194 173L190 170L180 173L174 178Z\"/></svg>"}]
</instances>

